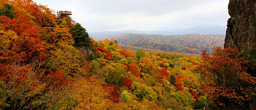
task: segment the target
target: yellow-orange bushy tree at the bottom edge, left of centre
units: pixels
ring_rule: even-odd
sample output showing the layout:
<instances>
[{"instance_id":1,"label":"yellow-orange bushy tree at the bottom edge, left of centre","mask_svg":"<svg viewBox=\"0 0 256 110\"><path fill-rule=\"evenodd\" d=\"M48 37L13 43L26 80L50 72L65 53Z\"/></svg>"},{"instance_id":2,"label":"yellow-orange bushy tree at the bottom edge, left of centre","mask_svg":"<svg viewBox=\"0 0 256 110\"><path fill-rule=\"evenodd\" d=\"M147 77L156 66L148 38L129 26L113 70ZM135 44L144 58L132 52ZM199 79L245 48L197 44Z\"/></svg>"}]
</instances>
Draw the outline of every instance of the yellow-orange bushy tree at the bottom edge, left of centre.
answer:
<instances>
[{"instance_id":1,"label":"yellow-orange bushy tree at the bottom edge, left of centre","mask_svg":"<svg viewBox=\"0 0 256 110\"><path fill-rule=\"evenodd\" d=\"M75 80L73 89L77 104L73 109L112 109L114 107L114 102L106 98L109 92L102 86L104 80L96 77L93 75L89 79L80 77Z\"/></svg>"}]
</instances>

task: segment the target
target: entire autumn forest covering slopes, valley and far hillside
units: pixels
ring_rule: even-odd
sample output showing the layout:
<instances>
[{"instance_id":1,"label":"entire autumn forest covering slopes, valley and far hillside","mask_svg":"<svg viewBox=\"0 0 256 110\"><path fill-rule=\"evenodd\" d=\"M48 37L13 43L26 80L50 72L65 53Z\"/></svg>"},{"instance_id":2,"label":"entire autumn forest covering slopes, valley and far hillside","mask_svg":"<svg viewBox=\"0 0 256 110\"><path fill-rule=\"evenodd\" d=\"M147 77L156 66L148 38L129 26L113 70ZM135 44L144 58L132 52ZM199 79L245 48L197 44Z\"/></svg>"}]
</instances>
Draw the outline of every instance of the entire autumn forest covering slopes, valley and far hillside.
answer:
<instances>
[{"instance_id":1,"label":"entire autumn forest covering slopes, valley and far hillside","mask_svg":"<svg viewBox=\"0 0 256 110\"><path fill-rule=\"evenodd\" d=\"M224 35L96 41L55 13L0 0L0 109L246 109L256 96L256 50Z\"/></svg>"}]
</instances>

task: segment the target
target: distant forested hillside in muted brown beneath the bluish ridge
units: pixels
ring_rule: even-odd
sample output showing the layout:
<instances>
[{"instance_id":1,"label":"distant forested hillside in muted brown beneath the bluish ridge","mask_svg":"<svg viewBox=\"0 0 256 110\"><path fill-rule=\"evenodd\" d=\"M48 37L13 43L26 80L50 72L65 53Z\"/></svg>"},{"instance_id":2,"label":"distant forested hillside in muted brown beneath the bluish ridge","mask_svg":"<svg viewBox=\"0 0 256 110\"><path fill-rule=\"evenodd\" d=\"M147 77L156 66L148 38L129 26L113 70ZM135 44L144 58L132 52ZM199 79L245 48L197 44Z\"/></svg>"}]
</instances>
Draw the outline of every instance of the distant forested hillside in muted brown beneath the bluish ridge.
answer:
<instances>
[{"instance_id":1,"label":"distant forested hillside in muted brown beneath the bluish ridge","mask_svg":"<svg viewBox=\"0 0 256 110\"><path fill-rule=\"evenodd\" d=\"M201 54L203 50L211 52L213 47L224 45L224 35L146 35L122 33L117 35L92 35L95 40L114 38L124 48L137 50L143 48L149 52L178 52L183 54Z\"/></svg>"}]
</instances>

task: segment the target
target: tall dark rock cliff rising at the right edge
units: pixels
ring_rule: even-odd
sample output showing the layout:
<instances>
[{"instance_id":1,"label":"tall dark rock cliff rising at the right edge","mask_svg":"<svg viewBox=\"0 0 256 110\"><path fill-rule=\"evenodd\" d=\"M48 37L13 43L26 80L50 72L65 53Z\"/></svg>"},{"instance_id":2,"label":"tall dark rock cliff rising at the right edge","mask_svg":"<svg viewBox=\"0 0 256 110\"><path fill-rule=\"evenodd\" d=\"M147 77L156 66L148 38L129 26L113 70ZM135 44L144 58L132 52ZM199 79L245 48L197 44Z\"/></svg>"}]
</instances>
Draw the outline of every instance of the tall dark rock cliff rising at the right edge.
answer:
<instances>
[{"instance_id":1,"label":"tall dark rock cliff rising at the right edge","mask_svg":"<svg viewBox=\"0 0 256 110\"><path fill-rule=\"evenodd\" d=\"M240 52L256 48L256 1L230 0L224 48L238 47Z\"/></svg>"}]
</instances>

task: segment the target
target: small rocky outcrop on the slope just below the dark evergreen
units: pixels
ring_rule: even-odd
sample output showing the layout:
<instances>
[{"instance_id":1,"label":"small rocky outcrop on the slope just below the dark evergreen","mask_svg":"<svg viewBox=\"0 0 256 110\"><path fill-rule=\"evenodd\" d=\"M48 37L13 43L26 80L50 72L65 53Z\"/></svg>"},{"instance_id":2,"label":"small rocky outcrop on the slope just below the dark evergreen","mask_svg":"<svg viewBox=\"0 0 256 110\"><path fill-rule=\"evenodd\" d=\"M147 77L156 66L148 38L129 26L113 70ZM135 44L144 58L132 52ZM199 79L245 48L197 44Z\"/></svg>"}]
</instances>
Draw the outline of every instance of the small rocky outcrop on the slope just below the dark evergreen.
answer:
<instances>
[{"instance_id":1,"label":"small rocky outcrop on the slope just below the dark evergreen","mask_svg":"<svg viewBox=\"0 0 256 110\"><path fill-rule=\"evenodd\" d=\"M81 54L83 54L85 59L88 59L91 54L94 56L91 46L77 46L77 45L75 45L74 47L77 48L77 50L79 50L81 52Z\"/></svg>"}]
</instances>

